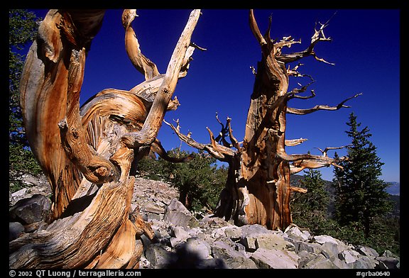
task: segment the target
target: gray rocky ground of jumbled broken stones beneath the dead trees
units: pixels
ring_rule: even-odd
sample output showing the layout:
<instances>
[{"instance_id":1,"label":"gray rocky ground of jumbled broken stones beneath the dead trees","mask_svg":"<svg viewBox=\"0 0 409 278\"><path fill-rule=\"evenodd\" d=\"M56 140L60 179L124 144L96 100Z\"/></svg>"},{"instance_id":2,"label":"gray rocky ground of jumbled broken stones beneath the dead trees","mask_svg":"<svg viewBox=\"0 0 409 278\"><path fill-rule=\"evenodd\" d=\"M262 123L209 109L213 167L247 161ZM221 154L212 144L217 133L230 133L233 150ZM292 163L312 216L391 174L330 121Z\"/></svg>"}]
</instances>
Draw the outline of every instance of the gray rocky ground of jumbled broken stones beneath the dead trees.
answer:
<instances>
[{"instance_id":1,"label":"gray rocky ground of jumbled broken stones beneath the dead trees","mask_svg":"<svg viewBox=\"0 0 409 278\"><path fill-rule=\"evenodd\" d=\"M50 209L46 179L26 176L25 180L30 187L9 195L9 240L40 228ZM267 230L260 225L234 226L212 215L195 217L178 201L178 191L165 182L136 178L134 208L156 234L153 240L142 238L141 268L400 268L400 258L389 251L378 254L295 225L284 231Z\"/></svg>"}]
</instances>

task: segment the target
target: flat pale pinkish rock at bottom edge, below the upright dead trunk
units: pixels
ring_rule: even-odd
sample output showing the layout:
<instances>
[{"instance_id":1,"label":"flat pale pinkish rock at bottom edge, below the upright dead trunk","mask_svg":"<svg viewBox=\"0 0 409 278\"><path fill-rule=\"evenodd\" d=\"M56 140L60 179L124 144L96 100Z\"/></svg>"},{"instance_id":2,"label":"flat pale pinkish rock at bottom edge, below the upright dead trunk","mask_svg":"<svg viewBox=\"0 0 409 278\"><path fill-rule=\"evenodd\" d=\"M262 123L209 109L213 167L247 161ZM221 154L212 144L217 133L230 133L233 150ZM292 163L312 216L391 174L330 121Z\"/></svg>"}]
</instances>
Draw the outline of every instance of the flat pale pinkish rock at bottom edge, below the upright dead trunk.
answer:
<instances>
[{"instance_id":1,"label":"flat pale pinkish rock at bottom edge, below the upright dead trunk","mask_svg":"<svg viewBox=\"0 0 409 278\"><path fill-rule=\"evenodd\" d=\"M295 269L298 268L298 259L295 252L287 250L268 250L258 248L251 255L258 268Z\"/></svg>"}]
</instances>

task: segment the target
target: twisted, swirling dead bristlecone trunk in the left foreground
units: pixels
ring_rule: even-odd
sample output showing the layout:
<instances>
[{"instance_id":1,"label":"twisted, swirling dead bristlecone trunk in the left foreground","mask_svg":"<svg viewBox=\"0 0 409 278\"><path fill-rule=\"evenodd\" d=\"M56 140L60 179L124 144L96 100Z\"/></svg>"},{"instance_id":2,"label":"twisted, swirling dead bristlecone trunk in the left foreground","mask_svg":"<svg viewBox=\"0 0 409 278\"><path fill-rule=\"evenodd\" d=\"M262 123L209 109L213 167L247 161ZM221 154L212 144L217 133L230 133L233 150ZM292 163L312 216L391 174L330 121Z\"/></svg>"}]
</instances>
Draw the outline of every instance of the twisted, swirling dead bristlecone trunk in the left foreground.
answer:
<instances>
[{"instance_id":1,"label":"twisted, swirling dead bristlecone trunk in the left foreground","mask_svg":"<svg viewBox=\"0 0 409 278\"><path fill-rule=\"evenodd\" d=\"M145 81L129 91L105 89L80 107L85 57L104 13L48 11L28 52L23 121L53 190L52 216L47 228L9 243L10 268L138 268L141 235L152 239L153 230L131 211L131 164L151 151L185 161L168 157L156 136L165 112L179 105L172 96L197 48L190 38L200 10L187 18L164 74L141 53L131 26L136 10L124 10L126 52Z\"/></svg>"}]
</instances>

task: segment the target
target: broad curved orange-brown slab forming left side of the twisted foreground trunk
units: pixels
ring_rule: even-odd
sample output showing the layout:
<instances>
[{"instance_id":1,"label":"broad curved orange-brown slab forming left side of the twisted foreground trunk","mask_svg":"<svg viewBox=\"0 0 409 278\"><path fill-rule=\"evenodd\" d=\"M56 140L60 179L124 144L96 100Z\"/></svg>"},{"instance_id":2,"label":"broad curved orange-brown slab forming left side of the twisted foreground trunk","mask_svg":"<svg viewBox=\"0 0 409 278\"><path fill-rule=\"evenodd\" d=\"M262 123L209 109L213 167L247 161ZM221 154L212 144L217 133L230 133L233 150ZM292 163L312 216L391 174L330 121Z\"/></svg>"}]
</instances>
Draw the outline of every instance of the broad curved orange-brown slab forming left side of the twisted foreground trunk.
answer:
<instances>
[{"instance_id":1,"label":"broad curved orange-brown slab forming left side of the twisted foreground trunk","mask_svg":"<svg viewBox=\"0 0 409 278\"><path fill-rule=\"evenodd\" d=\"M80 169L61 148L58 123L67 118L67 113L75 117L72 111L75 99L68 99L67 94L69 90L70 94L79 93L84 67L81 65L84 60L77 60L75 53L89 49L103 17L103 10L50 10L38 28L38 38L31 45L23 67L20 82L23 121L31 150L54 192L53 218L65 211L82 179Z\"/></svg>"}]
</instances>

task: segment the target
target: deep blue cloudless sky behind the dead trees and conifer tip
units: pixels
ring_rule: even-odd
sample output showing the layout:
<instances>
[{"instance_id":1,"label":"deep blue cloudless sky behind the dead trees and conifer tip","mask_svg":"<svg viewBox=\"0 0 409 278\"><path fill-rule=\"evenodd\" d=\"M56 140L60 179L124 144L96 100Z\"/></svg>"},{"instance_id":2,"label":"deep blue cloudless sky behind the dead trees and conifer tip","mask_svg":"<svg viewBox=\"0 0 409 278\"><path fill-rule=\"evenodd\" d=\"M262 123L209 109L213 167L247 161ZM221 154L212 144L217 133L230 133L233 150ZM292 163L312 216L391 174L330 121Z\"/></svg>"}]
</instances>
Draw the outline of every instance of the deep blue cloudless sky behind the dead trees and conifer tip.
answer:
<instances>
[{"instance_id":1,"label":"deep blue cloudless sky behind the dead trees and conifer tip","mask_svg":"<svg viewBox=\"0 0 409 278\"><path fill-rule=\"evenodd\" d=\"M325 23L336 10L290 9L255 10L261 33L266 31L268 16L272 14L271 37L276 39L292 35L301 44L284 49L285 52L304 50L314 33L315 22ZM36 10L45 16L44 10ZM86 61L81 102L102 89L131 89L143 82L143 76L131 65L124 48L122 10L107 10L102 29L92 42ZM187 22L190 10L138 10L133 28L141 51L165 73L173 48ZM209 143L208 126L217 134L220 125L215 113L224 122L232 118L231 126L239 140L244 138L247 111L254 76L250 67L256 67L261 50L249 28L249 11L242 9L204 9L192 35L192 42L207 48L195 50L187 77L180 79L175 89L180 106L166 114L165 120L180 119L182 133L192 132L192 138ZM288 115L287 139L307 138L296 147L288 147L290 154L315 148L338 147L351 143L345 133L349 127L349 113L354 112L361 128L368 126L371 142L383 165L386 182L400 182L400 11L393 9L339 9L325 28L331 43L315 47L318 57L335 65L318 62L307 57L299 68L310 74L315 83L303 94L312 99L293 99L290 107L310 108L318 104L337 105L340 101L363 93L347 102L349 109L317 111L306 116ZM290 88L298 82L307 84L307 78L290 78ZM163 125L158 138L170 150L180 145L180 140L170 127ZM193 150L185 143L185 150ZM344 150L337 151L345 155ZM334 151L328 153L334 155ZM302 174L302 172L300 173ZM324 179L332 179L332 168L322 169Z\"/></svg>"}]
</instances>

